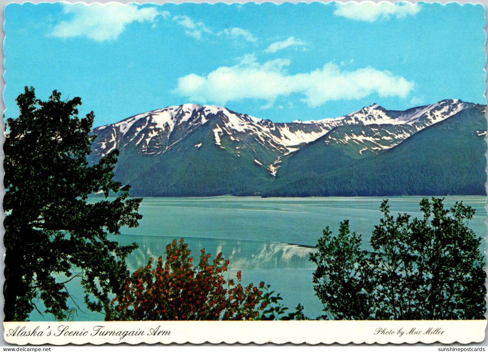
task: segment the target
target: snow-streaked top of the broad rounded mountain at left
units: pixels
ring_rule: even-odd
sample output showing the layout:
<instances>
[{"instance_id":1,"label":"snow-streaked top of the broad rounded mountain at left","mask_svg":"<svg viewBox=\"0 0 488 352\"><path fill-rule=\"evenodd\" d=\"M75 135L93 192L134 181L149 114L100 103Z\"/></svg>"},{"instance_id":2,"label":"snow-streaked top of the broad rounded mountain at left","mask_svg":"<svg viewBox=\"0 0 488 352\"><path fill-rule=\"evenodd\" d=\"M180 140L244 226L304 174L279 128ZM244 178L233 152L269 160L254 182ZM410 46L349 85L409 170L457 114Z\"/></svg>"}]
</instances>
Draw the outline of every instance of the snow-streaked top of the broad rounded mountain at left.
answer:
<instances>
[{"instance_id":1,"label":"snow-streaked top of the broad rounded mountain at left","mask_svg":"<svg viewBox=\"0 0 488 352\"><path fill-rule=\"evenodd\" d=\"M284 153L323 136L340 124L339 120L313 124L273 123L221 106L183 104L95 128L93 133L98 137L94 152L104 156L115 148L133 144L142 154L161 154L205 123L212 124L216 145L221 145L223 136L239 140L238 136L245 134L254 136L258 143L267 148Z\"/></svg>"}]
</instances>

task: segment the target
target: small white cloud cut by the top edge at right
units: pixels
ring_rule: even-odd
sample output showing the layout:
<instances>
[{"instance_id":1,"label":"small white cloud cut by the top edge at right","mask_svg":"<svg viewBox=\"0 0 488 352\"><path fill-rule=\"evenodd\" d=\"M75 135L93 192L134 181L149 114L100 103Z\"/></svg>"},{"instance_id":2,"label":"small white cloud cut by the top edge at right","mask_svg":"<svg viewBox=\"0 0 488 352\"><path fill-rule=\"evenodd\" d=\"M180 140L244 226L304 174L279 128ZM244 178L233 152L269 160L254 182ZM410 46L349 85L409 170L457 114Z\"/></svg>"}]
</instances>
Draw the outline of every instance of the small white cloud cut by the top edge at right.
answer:
<instances>
[{"instance_id":1,"label":"small white cloud cut by the top edge at right","mask_svg":"<svg viewBox=\"0 0 488 352\"><path fill-rule=\"evenodd\" d=\"M392 17L397 19L405 18L408 15L417 14L421 5L410 2L348 2L336 4L334 15L346 17L351 20L373 22L375 20L389 20Z\"/></svg>"}]
</instances>

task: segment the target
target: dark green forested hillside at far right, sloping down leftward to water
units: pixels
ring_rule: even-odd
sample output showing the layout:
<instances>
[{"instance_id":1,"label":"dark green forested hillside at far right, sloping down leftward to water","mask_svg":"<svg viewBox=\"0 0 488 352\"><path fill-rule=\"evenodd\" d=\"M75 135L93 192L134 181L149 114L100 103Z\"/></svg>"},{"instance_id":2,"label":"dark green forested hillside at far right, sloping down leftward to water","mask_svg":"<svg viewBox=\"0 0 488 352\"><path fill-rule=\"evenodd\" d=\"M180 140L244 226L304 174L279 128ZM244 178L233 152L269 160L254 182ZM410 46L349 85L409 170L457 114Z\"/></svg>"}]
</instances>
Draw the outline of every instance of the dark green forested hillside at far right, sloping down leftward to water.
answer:
<instances>
[{"instance_id":1,"label":"dark green forested hillside at far right, sloping down leftward to water","mask_svg":"<svg viewBox=\"0 0 488 352\"><path fill-rule=\"evenodd\" d=\"M485 195L485 107L474 105L371 158L275 183L265 196Z\"/></svg>"}]
</instances>

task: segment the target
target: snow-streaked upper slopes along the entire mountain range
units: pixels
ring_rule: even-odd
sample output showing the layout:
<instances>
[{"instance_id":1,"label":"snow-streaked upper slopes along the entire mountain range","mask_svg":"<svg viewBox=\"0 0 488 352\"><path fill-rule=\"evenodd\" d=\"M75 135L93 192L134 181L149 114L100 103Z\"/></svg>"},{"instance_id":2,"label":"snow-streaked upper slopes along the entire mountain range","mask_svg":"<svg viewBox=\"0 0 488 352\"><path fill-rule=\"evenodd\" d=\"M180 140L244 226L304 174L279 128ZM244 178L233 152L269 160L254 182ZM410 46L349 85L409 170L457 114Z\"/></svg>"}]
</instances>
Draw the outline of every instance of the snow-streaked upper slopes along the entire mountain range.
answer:
<instances>
[{"instance_id":1,"label":"snow-streaked upper slopes along the entire mountain range","mask_svg":"<svg viewBox=\"0 0 488 352\"><path fill-rule=\"evenodd\" d=\"M469 103L460 100L442 100L406 111L389 111L378 104L372 104L343 117L274 123L238 114L221 106L183 104L153 110L95 128L93 133L97 135L97 140L93 151L97 156L104 156L116 148L132 146L141 154L158 155L176 145L199 126L209 123L213 126L216 145L221 145L223 137L239 141L239 137L246 135L253 136L256 142L265 148L286 154L345 124L405 124L415 126L418 131L457 114L467 105ZM395 136L395 139L405 139L410 135L411 133ZM348 139L356 140L365 138L368 137L348 136Z\"/></svg>"}]
</instances>

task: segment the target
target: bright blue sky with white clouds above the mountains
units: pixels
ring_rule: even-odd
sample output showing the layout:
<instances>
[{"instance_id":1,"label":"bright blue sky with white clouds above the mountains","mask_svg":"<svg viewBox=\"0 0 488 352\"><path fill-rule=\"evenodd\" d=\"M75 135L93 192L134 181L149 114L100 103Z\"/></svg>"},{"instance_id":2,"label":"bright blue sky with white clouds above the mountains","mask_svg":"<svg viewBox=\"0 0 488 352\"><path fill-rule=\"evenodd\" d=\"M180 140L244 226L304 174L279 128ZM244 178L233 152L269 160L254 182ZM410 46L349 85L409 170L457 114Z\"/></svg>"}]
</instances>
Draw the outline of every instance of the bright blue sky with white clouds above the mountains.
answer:
<instances>
[{"instance_id":1,"label":"bright blue sky with white clouds above the mountains","mask_svg":"<svg viewBox=\"0 0 488 352\"><path fill-rule=\"evenodd\" d=\"M81 97L96 126L186 102L276 122L486 104L484 28L480 4L13 3L5 115L24 86Z\"/></svg>"}]
</instances>

